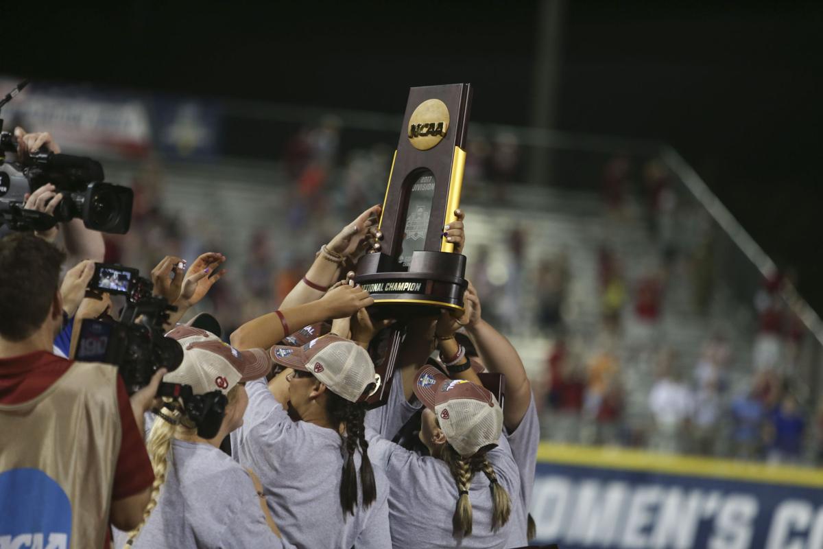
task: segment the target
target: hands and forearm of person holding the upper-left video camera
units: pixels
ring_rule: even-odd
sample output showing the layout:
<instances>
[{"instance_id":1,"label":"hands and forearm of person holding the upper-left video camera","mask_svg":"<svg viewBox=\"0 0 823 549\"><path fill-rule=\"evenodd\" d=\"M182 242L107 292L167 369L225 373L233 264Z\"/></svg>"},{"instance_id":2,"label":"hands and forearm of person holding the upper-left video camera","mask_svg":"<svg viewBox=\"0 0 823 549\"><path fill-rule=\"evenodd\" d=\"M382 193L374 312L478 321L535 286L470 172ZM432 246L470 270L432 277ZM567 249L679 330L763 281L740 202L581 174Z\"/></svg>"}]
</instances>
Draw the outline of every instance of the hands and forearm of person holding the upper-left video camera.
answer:
<instances>
[{"instance_id":1,"label":"hands and forearm of person holding the upper-left video camera","mask_svg":"<svg viewBox=\"0 0 823 549\"><path fill-rule=\"evenodd\" d=\"M26 159L30 152L41 148L54 153L60 152L60 146L54 142L49 133L26 133L26 130L17 127L14 130L14 136L17 140L17 156L21 161ZM63 200L63 194L57 193L56 190L53 184L45 184L37 188L34 193L26 193L24 207L27 210L36 210L51 215ZM5 227L0 227L0 237L7 235L8 232L9 230ZM67 263L70 265L81 259L103 261L105 255L103 235L96 230L86 229L82 219L58 223L52 229L42 232L35 231L35 235L53 244L58 244L62 235L62 247L66 250Z\"/></svg>"}]
</instances>

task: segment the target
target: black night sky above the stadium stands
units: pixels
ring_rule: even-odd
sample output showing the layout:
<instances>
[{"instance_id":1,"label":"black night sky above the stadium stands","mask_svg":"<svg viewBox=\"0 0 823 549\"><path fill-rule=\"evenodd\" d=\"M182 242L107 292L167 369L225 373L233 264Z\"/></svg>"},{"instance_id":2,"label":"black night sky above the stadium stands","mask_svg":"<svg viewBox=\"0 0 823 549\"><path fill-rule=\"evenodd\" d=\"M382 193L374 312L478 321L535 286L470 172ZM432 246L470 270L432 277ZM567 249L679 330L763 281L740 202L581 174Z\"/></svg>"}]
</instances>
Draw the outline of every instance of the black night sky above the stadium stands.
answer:
<instances>
[{"instance_id":1,"label":"black night sky above the stadium stands","mask_svg":"<svg viewBox=\"0 0 823 549\"><path fill-rule=\"evenodd\" d=\"M3 73L387 113L470 81L529 122L537 2L52 3L3 2ZM695 3L568 2L557 127L672 144L821 312L823 8Z\"/></svg>"}]
</instances>

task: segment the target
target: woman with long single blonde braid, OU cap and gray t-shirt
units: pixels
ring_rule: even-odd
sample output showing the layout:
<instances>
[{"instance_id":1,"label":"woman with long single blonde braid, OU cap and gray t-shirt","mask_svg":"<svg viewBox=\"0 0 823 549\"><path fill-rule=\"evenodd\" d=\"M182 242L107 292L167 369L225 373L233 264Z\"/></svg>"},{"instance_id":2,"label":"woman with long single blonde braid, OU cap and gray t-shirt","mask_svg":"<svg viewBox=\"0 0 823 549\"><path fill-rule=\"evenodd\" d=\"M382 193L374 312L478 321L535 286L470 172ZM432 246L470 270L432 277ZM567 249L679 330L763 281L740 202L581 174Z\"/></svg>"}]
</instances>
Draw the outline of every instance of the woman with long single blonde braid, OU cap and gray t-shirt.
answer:
<instances>
[{"instance_id":1,"label":"woman with long single blonde braid, OU cap and gray t-shirt","mask_svg":"<svg viewBox=\"0 0 823 549\"><path fill-rule=\"evenodd\" d=\"M163 381L190 388L192 396L164 398L156 411L146 443L155 472L151 500L137 528L115 532L117 547L285 547L253 472L219 449L243 423L249 402L243 384L271 369L266 351L238 351L191 326L178 326L166 337L183 347L183 362ZM212 414L193 412L192 402L203 405L221 395L226 398L222 414L219 408ZM198 435L207 430L214 433L211 438Z\"/></svg>"}]
</instances>

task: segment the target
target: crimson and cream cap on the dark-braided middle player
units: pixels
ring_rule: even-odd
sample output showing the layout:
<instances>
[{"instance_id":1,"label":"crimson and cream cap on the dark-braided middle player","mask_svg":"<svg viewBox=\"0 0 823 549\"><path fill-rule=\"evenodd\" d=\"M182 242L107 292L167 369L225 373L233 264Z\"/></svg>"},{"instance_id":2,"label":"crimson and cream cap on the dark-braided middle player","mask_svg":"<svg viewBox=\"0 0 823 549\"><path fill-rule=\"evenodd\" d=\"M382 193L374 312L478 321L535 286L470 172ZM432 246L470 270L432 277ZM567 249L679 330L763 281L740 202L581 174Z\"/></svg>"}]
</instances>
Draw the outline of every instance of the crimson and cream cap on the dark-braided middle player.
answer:
<instances>
[{"instance_id":1,"label":"crimson and cream cap on the dark-braided middle player","mask_svg":"<svg viewBox=\"0 0 823 549\"><path fill-rule=\"evenodd\" d=\"M272 361L309 372L349 402L362 400L370 384L379 384L369 353L333 333L317 337L303 347L275 345L270 353Z\"/></svg>"}]
</instances>

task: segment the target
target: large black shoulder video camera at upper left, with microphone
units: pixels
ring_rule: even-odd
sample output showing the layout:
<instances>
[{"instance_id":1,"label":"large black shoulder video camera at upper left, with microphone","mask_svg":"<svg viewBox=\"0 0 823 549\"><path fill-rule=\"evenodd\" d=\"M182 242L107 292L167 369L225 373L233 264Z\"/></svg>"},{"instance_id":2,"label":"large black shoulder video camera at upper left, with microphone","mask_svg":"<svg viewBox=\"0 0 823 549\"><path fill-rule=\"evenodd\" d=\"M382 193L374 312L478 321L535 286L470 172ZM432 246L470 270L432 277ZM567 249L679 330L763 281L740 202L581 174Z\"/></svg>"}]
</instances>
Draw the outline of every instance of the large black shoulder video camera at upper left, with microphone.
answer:
<instances>
[{"instance_id":1,"label":"large black shoulder video camera at upper left, with microphone","mask_svg":"<svg viewBox=\"0 0 823 549\"><path fill-rule=\"evenodd\" d=\"M0 108L26 87L23 81L0 100ZM83 220L91 230L123 235L132 220L133 191L104 183L103 166L86 156L30 151L25 161L6 162L6 153L16 153L12 133L2 131L0 119L0 226L14 230L49 230L58 221ZM25 210L24 195L44 184L53 184L63 194L52 216Z\"/></svg>"}]
</instances>

